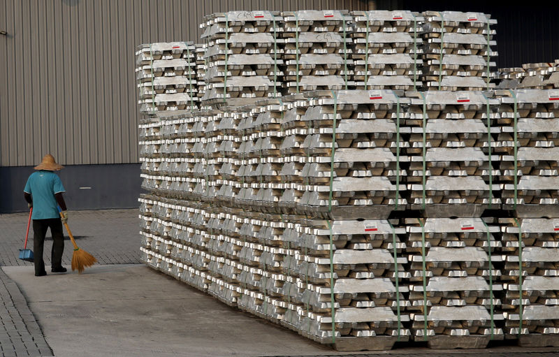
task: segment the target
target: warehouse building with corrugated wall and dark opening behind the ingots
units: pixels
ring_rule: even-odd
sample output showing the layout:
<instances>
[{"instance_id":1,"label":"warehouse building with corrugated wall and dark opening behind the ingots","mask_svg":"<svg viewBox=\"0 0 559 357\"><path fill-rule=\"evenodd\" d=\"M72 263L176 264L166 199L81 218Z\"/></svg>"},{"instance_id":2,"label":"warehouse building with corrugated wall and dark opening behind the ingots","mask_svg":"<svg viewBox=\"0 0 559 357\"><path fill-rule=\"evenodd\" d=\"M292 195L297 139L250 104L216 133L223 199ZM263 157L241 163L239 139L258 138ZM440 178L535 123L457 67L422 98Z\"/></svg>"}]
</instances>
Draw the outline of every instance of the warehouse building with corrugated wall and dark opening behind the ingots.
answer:
<instances>
[{"instance_id":1,"label":"warehouse building with corrugated wall and dark opening behind the ingots","mask_svg":"<svg viewBox=\"0 0 559 357\"><path fill-rule=\"evenodd\" d=\"M497 66L559 58L557 5L487 1L0 0L0 213L27 210L22 189L50 152L70 209L137 207L136 46L194 41L228 10L461 10L498 20Z\"/></svg>"}]
</instances>

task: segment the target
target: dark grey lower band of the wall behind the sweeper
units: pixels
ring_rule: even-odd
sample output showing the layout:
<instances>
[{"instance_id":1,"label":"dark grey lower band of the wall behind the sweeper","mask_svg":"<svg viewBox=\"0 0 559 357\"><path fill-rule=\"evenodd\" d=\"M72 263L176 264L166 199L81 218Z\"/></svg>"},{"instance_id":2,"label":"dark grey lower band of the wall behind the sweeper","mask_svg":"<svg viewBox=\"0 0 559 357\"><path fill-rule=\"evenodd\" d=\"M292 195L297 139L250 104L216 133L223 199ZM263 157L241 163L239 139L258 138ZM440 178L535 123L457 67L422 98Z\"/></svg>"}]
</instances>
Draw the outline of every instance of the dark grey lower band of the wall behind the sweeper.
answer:
<instances>
[{"instance_id":1,"label":"dark grey lower band of the wall behind the sweeper","mask_svg":"<svg viewBox=\"0 0 559 357\"><path fill-rule=\"evenodd\" d=\"M0 213L27 210L23 188L33 166L0 167ZM68 210L138 207L140 164L70 165L56 171Z\"/></svg>"}]
</instances>

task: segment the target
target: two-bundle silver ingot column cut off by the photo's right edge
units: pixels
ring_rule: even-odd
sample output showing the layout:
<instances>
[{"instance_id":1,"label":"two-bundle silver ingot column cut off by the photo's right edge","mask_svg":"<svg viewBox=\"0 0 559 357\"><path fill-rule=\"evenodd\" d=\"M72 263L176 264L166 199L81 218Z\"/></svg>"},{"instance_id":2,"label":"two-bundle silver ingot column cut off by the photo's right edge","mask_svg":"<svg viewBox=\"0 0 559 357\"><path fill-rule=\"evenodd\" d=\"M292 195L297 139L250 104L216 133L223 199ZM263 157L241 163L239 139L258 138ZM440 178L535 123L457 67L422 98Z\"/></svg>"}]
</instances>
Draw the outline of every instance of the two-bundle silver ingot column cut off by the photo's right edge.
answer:
<instances>
[{"instance_id":1,"label":"two-bundle silver ingot column cut off by the photo's right edge","mask_svg":"<svg viewBox=\"0 0 559 357\"><path fill-rule=\"evenodd\" d=\"M525 346L557 346L559 91L497 93L503 133L500 181L505 334Z\"/></svg>"}]
</instances>

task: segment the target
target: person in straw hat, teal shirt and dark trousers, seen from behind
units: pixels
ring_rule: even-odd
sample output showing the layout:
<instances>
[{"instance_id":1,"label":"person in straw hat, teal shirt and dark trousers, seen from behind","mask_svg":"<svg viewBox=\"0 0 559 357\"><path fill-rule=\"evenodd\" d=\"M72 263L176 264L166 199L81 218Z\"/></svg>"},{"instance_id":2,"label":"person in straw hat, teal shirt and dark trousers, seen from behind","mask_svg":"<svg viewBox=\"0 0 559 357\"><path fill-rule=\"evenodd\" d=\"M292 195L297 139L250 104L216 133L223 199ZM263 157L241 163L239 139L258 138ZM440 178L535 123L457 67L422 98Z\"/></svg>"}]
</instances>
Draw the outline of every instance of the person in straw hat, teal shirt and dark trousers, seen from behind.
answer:
<instances>
[{"instance_id":1,"label":"person in straw hat, teal shirt and dark trousers, seen from behind","mask_svg":"<svg viewBox=\"0 0 559 357\"><path fill-rule=\"evenodd\" d=\"M62 252L64 252L64 235L62 234L62 223L68 221L66 203L62 193L66 192L62 181L53 171L61 170L64 166L55 161L55 157L46 154L43 161L35 167L36 172L27 179L24 188L24 198L29 209L33 207L33 249L35 276L47 275L45 261L43 261L43 245L45 235L50 228L52 235L51 272L66 272L62 266ZM57 204L62 212L59 214Z\"/></svg>"}]
</instances>

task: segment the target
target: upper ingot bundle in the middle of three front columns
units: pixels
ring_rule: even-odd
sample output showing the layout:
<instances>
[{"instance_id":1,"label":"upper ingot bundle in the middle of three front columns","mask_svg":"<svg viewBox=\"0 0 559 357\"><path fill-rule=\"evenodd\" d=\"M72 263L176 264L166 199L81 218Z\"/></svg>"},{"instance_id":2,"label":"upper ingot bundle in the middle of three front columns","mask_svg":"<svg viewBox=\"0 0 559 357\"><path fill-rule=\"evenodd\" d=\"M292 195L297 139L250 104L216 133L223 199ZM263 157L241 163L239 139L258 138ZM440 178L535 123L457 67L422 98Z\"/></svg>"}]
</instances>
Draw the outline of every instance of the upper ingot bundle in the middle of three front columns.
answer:
<instances>
[{"instance_id":1,"label":"upper ingot bundle in the middle of three front columns","mask_svg":"<svg viewBox=\"0 0 559 357\"><path fill-rule=\"evenodd\" d=\"M499 209L500 172L491 162L498 160L492 152L499 101L481 92L407 95L410 208L423 217L481 217Z\"/></svg>"}]
</instances>

